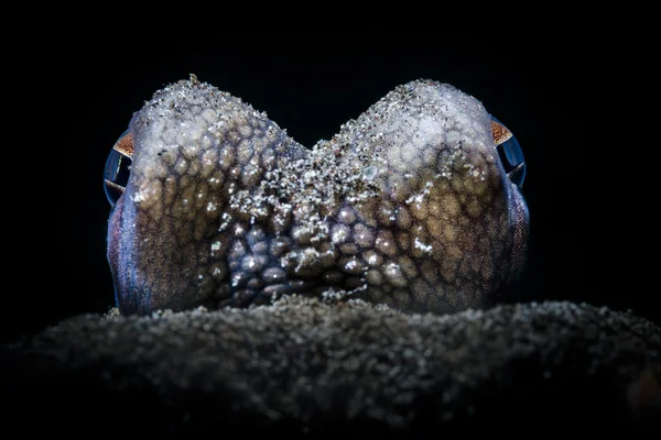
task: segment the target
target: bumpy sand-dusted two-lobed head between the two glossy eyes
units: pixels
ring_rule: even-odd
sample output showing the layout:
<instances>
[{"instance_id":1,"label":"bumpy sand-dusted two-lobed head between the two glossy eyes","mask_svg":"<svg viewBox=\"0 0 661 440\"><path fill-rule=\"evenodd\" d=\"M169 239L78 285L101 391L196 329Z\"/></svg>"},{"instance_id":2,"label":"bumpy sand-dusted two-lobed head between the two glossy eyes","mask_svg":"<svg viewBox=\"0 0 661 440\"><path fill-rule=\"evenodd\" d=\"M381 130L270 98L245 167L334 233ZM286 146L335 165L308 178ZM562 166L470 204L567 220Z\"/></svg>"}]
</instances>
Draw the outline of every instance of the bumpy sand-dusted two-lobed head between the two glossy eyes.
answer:
<instances>
[{"instance_id":1,"label":"bumpy sand-dusted two-lobed head between the two glossy eyes","mask_svg":"<svg viewBox=\"0 0 661 440\"><path fill-rule=\"evenodd\" d=\"M490 305L524 262L528 211L490 116L448 85L400 86L307 150L192 77L129 134L108 232L124 315L292 293L451 312Z\"/></svg>"}]
</instances>

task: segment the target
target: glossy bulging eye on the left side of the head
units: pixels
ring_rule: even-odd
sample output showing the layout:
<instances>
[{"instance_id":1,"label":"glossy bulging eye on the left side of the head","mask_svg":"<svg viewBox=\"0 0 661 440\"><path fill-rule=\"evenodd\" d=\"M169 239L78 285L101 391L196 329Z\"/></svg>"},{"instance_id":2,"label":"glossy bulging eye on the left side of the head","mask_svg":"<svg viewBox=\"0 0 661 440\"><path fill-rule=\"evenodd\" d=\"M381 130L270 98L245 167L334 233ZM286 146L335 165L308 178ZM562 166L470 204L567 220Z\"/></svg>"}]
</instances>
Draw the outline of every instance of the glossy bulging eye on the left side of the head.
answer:
<instances>
[{"instance_id":1,"label":"glossy bulging eye on the left side of the head","mask_svg":"<svg viewBox=\"0 0 661 440\"><path fill-rule=\"evenodd\" d=\"M131 157L133 157L133 138L127 130L110 150L104 169L104 189L110 206L115 206L127 187L131 173Z\"/></svg>"}]
</instances>

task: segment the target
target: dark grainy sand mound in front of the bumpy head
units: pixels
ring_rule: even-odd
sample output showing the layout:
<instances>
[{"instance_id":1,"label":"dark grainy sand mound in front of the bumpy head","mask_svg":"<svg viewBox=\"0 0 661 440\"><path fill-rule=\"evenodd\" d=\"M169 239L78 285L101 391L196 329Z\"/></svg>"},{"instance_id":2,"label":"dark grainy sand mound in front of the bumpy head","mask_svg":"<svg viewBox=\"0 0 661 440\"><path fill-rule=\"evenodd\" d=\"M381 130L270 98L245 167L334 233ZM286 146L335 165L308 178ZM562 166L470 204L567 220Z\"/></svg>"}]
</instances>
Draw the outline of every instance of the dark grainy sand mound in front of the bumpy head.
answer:
<instances>
[{"instance_id":1,"label":"dark grainy sand mound in front of the bumpy head","mask_svg":"<svg viewBox=\"0 0 661 440\"><path fill-rule=\"evenodd\" d=\"M434 316L294 297L84 315L1 354L2 424L22 432L410 438L661 420L661 329L568 301Z\"/></svg>"}]
</instances>

